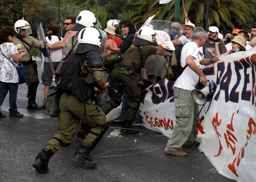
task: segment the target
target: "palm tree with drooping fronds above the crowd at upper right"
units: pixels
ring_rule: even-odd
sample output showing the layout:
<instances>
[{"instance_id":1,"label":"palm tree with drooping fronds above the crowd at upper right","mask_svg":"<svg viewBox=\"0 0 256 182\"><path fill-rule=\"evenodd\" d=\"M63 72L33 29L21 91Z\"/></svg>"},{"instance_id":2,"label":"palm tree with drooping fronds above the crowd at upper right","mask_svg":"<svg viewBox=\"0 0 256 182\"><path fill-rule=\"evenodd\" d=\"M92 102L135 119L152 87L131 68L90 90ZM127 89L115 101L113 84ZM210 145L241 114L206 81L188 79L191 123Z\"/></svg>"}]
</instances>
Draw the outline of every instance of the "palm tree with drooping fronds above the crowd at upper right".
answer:
<instances>
[{"instance_id":1,"label":"palm tree with drooping fronds above the crowd at upper right","mask_svg":"<svg viewBox=\"0 0 256 182\"><path fill-rule=\"evenodd\" d=\"M189 19L196 26L205 26L206 1L184 0ZM253 2L255 0L209 0L208 25L226 29L250 29L250 24L253 22L253 12L248 5L253 4ZM175 0L172 0L170 3L159 5L159 0L146 0L145 3L137 3L125 8L137 8L137 11L131 15L131 20L140 27L153 14L155 19L173 21L174 3ZM180 6L180 22L184 22L182 6Z\"/></svg>"}]
</instances>

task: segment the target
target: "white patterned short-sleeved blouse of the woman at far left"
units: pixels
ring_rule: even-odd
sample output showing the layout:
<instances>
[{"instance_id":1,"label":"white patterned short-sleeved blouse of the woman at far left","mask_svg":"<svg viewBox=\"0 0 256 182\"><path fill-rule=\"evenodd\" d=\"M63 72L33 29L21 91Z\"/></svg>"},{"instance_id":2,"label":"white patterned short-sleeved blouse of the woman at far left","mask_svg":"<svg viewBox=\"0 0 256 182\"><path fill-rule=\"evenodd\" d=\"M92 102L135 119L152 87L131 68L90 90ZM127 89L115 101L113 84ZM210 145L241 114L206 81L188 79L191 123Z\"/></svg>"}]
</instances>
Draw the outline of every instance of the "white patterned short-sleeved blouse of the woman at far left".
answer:
<instances>
[{"instance_id":1,"label":"white patterned short-sleeved blouse of the woman at far left","mask_svg":"<svg viewBox=\"0 0 256 182\"><path fill-rule=\"evenodd\" d=\"M5 83L18 83L19 75L17 69L12 64L14 63L17 65L17 62L12 59L12 55L18 53L15 45L11 42L6 42L4 44L0 44L0 49L3 52L3 54L0 52L0 81ZM12 63L3 55L12 61Z\"/></svg>"}]
</instances>

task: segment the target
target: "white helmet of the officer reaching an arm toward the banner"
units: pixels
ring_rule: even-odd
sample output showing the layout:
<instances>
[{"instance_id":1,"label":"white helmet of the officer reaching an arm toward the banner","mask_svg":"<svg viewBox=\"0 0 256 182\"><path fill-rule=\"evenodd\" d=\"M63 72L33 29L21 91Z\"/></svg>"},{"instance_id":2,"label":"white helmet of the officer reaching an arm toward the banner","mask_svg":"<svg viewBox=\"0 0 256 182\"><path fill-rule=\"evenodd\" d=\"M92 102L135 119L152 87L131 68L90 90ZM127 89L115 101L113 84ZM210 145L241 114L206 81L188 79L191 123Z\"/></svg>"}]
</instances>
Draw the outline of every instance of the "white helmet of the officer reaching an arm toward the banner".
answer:
<instances>
[{"instance_id":1,"label":"white helmet of the officer reaching an arm toward the banner","mask_svg":"<svg viewBox=\"0 0 256 182\"><path fill-rule=\"evenodd\" d=\"M154 36L157 35L149 26L143 26L138 32L138 38L134 41L135 46L149 45L153 42Z\"/></svg>"}]
</instances>

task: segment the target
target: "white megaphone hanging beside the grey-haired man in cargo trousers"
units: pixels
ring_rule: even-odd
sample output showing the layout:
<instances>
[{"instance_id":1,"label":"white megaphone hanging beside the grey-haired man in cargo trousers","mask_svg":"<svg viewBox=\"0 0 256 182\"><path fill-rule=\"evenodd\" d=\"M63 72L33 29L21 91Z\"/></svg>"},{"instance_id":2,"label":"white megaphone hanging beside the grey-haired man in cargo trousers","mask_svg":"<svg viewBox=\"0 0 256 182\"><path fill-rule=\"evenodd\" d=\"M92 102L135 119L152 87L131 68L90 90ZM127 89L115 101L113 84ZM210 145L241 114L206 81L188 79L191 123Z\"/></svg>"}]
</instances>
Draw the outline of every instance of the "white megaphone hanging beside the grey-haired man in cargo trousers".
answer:
<instances>
[{"instance_id":1,"label":"white megaphone hanging beside the grey-haired man in cargo trousers","mask_svg":"<svg viewBox=\"0 0 256 182\"><path fill-rule=\"evenodd\" d=\"M203 106L207 101L206 97L208 93L213 93L216 87L217 85L213 81L211 81L210 83L208 82L207 86L205 86L202 90L195 89L191 92L192 99L195 101L196 104Z\"/></svg>"}]
</instances>

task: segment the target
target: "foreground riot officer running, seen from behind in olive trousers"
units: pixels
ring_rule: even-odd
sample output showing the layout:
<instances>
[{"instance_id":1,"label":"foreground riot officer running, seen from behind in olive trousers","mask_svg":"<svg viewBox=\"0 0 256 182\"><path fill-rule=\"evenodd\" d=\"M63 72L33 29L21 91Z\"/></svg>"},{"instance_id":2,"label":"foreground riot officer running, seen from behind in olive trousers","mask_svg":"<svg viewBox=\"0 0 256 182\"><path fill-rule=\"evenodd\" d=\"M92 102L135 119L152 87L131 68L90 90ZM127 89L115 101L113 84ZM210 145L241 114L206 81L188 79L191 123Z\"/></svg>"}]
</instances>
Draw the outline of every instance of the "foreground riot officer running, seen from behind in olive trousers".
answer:
<instances>
[{"instance_id":1,"label":"foreground riot officer running, seen from behind in olive trousers","mask_svg":"<svg viewBox=\"0 0 256 182\"><path fill-rule=\"evenodd\" d=\"M91 77L97 85L94 88L93 84L87 84L86 78L81 77L81 85L73 84L74 91L64 90L60 99L60 114L57 121L58 133L56 133L52 139L46 144L46 147L35 158L33 168L40 173L46 173L48 168L49 159L53 154L60 150L62 145L70 144L73 139L76 130L79 127L80 119L82 119L86 124L90 126L90 132L83 140L80 147L76 150L76 153L71 158L72 161L79 164L83 164L88 168L96 168L97 163L93 161L89 155L90 151L99 143L102 136L108 130L108 122L106 121L106 116L103 111L95 104L94 94L100 94L106 92L108 89L108 84L105 84L103 64L100 55L96 52L101 44L102 35L99 29L94 27L87 27L82 29L78 35L79 45L75 50L75 54L71 55L63 63L63 72L68 69L74 69L74 72L70 73L70 77L62 77L62 82L60 82L60 87L63 88L71 79L71 82L80 79L80 76L76 70L79 68L72 68L72 64L68 64L70 61L76 62L78 66L83 65L81 68L85 73L91 73ZM80 63L81 64L80 64ZM69 72L67 71L67 72ZM67 74L65 72L64 74ZM88 79L91 79L88 78ZM67 80L65 80L67 79ZM62 84L63 83L63 84ZM87 89L85 89L87 87ZM81 101L79 96L83 90L83 93L87 96L86 100ZM84 95L82 94L82 95ZM83 97L84 98L84 97Z\"/></svg>"}]
</instances>

